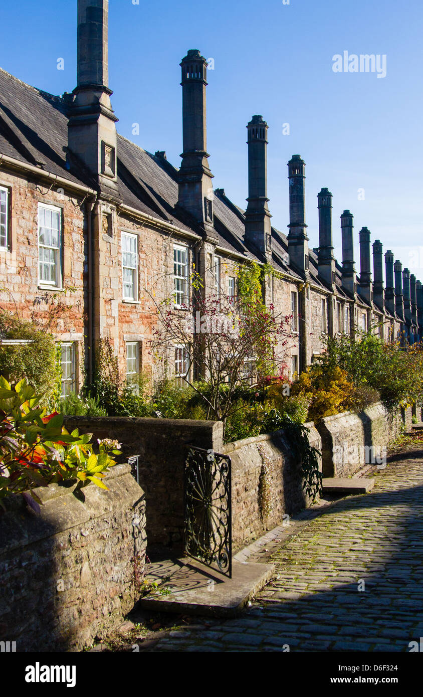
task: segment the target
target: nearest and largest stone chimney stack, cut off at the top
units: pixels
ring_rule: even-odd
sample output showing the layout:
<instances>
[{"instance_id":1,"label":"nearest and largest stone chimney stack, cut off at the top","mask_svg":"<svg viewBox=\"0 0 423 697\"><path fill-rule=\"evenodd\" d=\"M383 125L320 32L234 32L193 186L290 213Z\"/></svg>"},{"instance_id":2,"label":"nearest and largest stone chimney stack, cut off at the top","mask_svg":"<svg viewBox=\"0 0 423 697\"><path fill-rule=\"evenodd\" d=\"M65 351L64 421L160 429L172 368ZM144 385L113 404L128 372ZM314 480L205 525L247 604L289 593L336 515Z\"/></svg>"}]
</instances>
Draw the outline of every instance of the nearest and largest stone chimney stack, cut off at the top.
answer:
<instances>
[{"instance_id":1,"label":"nearest and largest stone chimney stack, cut off at the top","mask_svg":"<svg viewBox=\"0 0 423 697\"><path fill-rule=\"evenodd\" d=\"M116 121L109 89L109 0L78 0L77 86L69 108L68 147L100 190L116 195Z\"/></svg>"}]
</instances>

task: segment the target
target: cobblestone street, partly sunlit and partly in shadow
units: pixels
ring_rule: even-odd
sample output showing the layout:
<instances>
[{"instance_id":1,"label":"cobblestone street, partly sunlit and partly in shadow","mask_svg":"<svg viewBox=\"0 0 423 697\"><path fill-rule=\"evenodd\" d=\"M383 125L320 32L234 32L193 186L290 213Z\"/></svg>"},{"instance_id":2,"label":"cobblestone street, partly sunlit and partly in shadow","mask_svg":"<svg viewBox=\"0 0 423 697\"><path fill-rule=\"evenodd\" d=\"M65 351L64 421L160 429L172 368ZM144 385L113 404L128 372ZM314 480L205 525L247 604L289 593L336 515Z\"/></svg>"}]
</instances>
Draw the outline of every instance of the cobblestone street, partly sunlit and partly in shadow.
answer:
<instances>
[{"instance_id":1,"label":"cobblestone street, partly sunlit and partly in shadow","mask_svg":"<svg viewBox=\"0 0 423 697\"><path fill-rule=\"evenodd\" d=\"M397 456L373 493L279 544L275 578L239 618L171 631L150 650L409 651L423 636L422 455Z\"/></svg>"}]
</instances>

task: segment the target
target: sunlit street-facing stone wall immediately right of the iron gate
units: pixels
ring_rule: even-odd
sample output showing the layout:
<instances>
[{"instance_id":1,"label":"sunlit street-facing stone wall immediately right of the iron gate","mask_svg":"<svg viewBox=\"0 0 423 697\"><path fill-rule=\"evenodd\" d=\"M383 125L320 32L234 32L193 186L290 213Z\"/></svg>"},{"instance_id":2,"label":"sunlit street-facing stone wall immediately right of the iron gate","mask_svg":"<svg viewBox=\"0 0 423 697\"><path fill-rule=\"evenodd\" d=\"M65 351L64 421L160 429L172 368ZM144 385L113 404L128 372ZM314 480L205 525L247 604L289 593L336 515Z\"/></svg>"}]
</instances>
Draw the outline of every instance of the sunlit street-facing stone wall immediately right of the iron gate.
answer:
<instances>
[{"instance_id":1,"label":"sunlit street-facing stone wall immediately right of the iron gate","mask_svg":"<svg viewBox=\"0 0 423 697\"><path fill-rule=\"evenodd\" d=\"M313 423L306 425L310 443L320 451L321 437ZM309 505L302 489L300 464L293 459L284 431L228 443L223 452L232 462L232 544L235 551L279 525L284 514ZM271 512L267 517L262 515L259 497L263 459L269 472Z\"/></svg>"}]
</instances>

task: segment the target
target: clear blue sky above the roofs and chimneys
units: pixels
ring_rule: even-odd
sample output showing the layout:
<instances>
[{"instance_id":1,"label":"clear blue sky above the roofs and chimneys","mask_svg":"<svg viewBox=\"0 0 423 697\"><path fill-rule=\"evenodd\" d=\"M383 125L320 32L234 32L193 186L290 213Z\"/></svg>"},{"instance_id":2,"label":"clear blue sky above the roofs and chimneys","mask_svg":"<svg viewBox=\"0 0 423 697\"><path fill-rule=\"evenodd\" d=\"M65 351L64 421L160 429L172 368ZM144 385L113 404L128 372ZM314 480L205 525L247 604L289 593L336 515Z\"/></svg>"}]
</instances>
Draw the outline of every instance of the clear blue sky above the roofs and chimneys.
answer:
<instances>
[{"instance_id":1,"label":"clear blue sky above the roofs and chimneys","mask_svg":"<svg viewBox=\"0 0 423 697\"><path fill-rule=\"evenodd\" d=\"M77 0L2 3L0 66L54 94L76 82ZM198 48L208 71L208 152L215 187L247 197L245 125L269 124L268 195L286 231L286 162L307 163L307 224L318 246L317 199L332 192L335 253L339 216L355 215L423 281L423 6L417 0L110 0L109 75L118 130L148 151L182 152L178 63ZM385 54L387 75L334 73L332 56ZM65 70L56 61L64 59ZM139 136L132 123L139 123ZM284 123L290 135L283 135ZM358 200L358 189L364 200ZM359 270L358 250L356 266Z\"/></svg>"}]
</instances>

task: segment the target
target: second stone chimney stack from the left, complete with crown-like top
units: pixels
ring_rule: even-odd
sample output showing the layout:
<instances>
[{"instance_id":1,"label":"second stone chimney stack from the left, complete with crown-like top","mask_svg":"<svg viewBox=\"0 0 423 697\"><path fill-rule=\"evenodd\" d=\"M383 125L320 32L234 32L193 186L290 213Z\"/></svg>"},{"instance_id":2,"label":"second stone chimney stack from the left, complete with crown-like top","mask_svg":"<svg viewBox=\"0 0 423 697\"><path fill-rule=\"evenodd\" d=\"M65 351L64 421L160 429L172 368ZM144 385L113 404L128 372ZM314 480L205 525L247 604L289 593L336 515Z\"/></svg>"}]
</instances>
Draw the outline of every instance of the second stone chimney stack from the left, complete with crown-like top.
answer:
<instances>
[{"instance_id":1,"label":"second stone chimney stack from the left, complete with crown-like top","mask_svg":"<svg viewBox=\"0 0 423 697\"><path fill-rule=\"evenodd\" d=\"M178 172L178 205L197 220L206 238L214 240L213 174L208 167L206 133L207 61L199 50L190 49L180 67L183 153Z\"/></svg>"}]
</instances>

